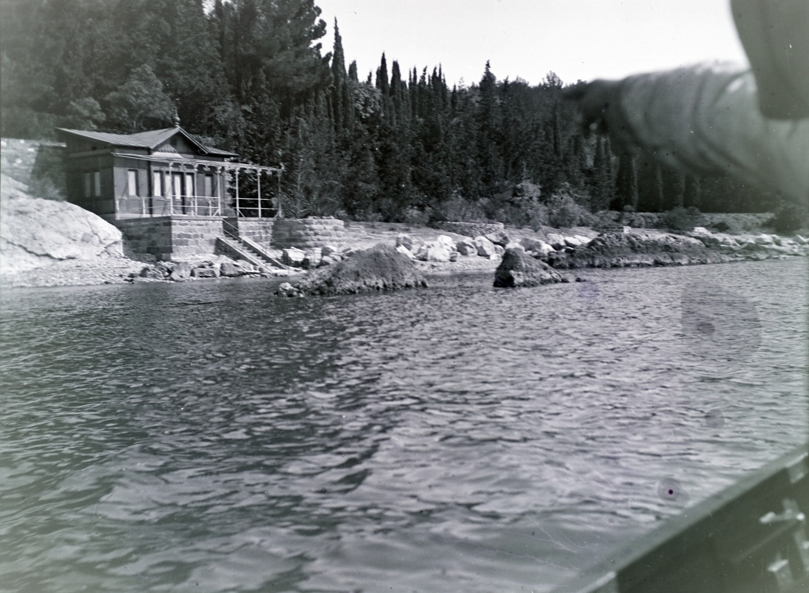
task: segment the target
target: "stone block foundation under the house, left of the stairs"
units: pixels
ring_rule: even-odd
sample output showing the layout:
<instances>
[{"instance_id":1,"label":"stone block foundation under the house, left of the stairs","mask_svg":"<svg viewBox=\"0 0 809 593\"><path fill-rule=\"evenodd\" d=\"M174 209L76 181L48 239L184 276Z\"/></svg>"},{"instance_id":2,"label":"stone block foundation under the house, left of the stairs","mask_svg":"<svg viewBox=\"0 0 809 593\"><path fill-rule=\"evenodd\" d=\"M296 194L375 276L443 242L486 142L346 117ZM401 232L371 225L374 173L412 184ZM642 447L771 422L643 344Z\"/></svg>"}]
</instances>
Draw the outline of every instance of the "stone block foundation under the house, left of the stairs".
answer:
<instances>
[{"instance_id":1,"label":"stone block foundation under the house, left of the stairs","mask_svg":"<svg viewBox=\"0 0 809 593\"><path fill-rule=\"evenodd\" d=\"M222 237L222 219L214 217L151 217L114 221L124 235L130 256L148 254L159 261L213 255Z\"/></svg>"}]
</instances>

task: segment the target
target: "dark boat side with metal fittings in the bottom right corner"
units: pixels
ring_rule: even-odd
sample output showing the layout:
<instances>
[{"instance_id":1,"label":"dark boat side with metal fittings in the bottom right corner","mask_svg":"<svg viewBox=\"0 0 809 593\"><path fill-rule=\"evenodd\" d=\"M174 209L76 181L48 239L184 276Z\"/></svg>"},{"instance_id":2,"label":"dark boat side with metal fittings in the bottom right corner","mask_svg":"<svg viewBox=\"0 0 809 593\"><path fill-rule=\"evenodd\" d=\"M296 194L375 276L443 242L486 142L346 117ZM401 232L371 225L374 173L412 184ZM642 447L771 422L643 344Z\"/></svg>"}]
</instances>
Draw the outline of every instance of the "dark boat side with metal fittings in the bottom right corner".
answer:
<instances>
[{"instance_id":1,"label":"dark boat side with metal fittings in the bottom right corner","mask_svg":"<svg viewBox=\"0 0 809 593\"><path fill-rule=\"evenodd\" d=\"M608 554L554 593L809 591L809 444Z\"/></svg>"}]
</instances>

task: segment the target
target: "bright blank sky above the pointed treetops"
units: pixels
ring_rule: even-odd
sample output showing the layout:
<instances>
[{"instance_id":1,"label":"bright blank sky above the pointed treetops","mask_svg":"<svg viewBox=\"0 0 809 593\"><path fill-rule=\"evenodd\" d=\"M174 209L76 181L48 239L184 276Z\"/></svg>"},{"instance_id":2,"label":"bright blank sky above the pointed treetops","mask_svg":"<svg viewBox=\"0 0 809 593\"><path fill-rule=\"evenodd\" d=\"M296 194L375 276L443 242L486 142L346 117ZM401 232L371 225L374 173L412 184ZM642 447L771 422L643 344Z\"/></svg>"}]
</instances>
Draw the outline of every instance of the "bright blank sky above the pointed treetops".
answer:
<instances>
[{"instance_id":1,"label":"bright blank sky above the pointed treetops","mask_svg":"<svg viewBox=\"0 0 809 593\"><path fill-rule=\"evenodd\" d=\"M334 18L346 65L359 77L388 68L442 65L449 84L478 82L487 60L499 80L539 84L623 78L706 60L747 62L730 0L316 0Z\"/></svg>"}]
</instances>

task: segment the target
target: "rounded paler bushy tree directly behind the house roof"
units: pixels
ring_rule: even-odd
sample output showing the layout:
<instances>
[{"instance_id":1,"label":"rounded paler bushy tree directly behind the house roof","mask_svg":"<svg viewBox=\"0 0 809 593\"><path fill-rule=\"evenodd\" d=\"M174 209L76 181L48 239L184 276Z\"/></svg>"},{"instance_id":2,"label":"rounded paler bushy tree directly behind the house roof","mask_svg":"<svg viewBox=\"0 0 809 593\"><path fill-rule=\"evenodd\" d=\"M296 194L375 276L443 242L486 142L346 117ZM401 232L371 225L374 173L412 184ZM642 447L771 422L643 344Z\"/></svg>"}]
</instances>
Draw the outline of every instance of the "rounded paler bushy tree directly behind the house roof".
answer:
<instances>
[{"instance_id":1,"label":"rounded paler bushy tree directly behind the house roof","mask_svg":"<svg viewBox=\"0 0 809 593\"><path fill-rule=\"evenodd\" d=\"M119 90L106 96L112 125L121 132L141 132L154 125L168 124L174 114L172 99L163 92L149 65L133 69Z\"/></svg>"}]
</instances>

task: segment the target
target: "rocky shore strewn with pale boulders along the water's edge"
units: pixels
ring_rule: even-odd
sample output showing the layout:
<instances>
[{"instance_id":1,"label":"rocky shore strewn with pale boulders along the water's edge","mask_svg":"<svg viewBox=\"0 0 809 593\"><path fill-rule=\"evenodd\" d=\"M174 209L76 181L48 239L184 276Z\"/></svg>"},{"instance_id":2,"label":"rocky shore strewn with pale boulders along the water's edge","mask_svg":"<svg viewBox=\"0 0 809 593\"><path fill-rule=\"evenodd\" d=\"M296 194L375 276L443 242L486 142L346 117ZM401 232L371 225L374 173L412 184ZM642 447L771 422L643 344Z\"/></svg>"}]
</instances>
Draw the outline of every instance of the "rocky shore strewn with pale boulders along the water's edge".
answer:
<instances>
[{"instance_id":1,"label":"rocky shore strewn with pale boulders along the water's edge","mask_svg":"<svg viewBox=\"0 0 809 593\"><path fill-rule=\"evenodd\" d=\"M293 284L307 286L304 292L309 294L343 294L357 292L365 284L375 289L421 285L414 280L417 274L494 273L503 263L496 284L506 287L564 281L557 270L582 267L727 263L809 254L807 239L800 234L730 234L704 227L673 233L628 226L535 230L500 223L448 222L434 229L347 222L337 245L306 250L264 245L274 262L265 266L213 254L188 261L148 262L126 258L120 230L100 217L73 204L30 196L27 190L24 184L2 177L0 285L6 287L290 276ZM371 265L370 260L354 257L379 244L390 247L383 259L390 260L395 253L396 259L412 264L413 271L396 278L362 280L359 268ZM333 270L323 271L327 267ZM322 284L327 277L331 280ZM313 288L316 279L320 288Z\"/></svg>"}]
</instances>

